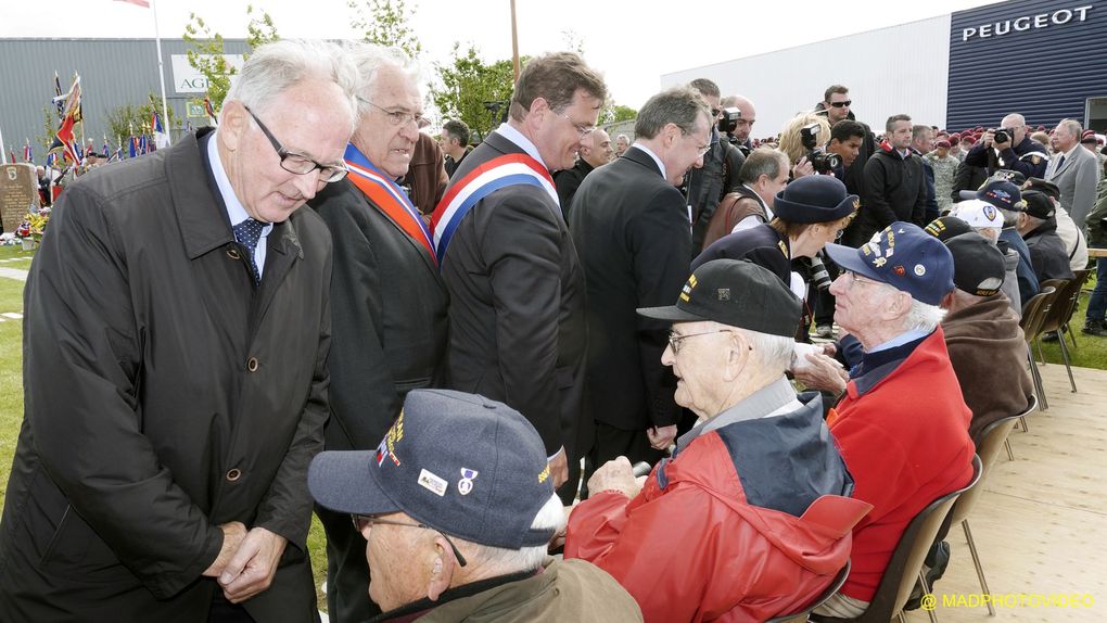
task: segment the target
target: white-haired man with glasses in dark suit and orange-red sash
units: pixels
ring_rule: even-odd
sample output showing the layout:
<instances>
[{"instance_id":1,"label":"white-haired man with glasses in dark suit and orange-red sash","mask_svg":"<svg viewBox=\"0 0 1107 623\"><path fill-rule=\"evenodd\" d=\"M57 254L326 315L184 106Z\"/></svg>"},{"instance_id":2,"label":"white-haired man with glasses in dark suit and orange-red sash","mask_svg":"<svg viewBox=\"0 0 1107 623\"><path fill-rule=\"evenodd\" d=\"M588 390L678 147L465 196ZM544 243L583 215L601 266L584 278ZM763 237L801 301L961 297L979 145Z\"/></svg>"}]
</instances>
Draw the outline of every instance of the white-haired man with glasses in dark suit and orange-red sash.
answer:
<instances>
[{"instance_id":1,"label":"white-haired man with glasses in dark suit and orange-red sash","mask_svg":"<svg viewBox=\"0 0 1107 623\"><path fill-rule=\"evenodd\" d=\"M421 136L414 70L399 50L359 44L350 54L366 81L346 147L350 175L311 201L334 238L328 450L375 448L407 392L435 384L446 351L446 288L430 232L395 183ZM328 616L379 613L365 590L365 539L349 515L315 513L327 531Z\"/></svg>"}]
</instances>

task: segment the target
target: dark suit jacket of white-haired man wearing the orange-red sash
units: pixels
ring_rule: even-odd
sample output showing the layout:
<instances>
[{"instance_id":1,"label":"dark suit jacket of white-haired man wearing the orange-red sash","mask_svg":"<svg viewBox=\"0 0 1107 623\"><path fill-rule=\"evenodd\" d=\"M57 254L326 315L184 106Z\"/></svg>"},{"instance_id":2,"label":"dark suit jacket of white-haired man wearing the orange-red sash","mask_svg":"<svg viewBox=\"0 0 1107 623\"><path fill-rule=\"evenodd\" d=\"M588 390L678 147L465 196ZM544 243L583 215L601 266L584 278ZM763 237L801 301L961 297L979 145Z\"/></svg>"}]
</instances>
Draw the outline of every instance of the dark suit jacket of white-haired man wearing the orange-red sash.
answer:
<instances>
[{"instance_id":1,"label":"dark suit jacket of white-haired man wearing the orange-red sash","mask_svg":"<svg viewBox=\"0 0 1107 623\"><path fill-rule=\"evenodd\" d=\"M444 367L446 287L426 249L349 179L310 205L334 239L327 449L372 449L407 392Z\"/></svg>"}]
</instances>

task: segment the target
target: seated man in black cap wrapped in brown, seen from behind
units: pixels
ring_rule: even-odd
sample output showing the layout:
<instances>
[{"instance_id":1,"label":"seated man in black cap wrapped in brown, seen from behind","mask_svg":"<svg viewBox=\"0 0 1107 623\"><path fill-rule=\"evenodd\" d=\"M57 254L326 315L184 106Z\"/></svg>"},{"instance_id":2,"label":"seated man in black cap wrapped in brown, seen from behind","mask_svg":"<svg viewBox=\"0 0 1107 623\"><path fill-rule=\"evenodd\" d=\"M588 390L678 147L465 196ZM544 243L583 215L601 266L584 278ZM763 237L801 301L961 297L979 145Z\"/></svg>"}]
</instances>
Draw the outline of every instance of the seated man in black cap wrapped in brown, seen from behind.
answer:
<instances>
[{"instance_id":1,"label":"seated man in black cap wrapped in brown, seen from behind","mask_svg":"<svg viewBox=\"0 0 1107 623\"><path fill-rule=\"evenodd\" d=\"M996 419L1026 408L1034 392L1026 374L1026 341L1018 315L1000 285L1004 261L983 236L969 232L944 240L953 256L953 284L942 320L950 363L972 411L969 436L980 446L981 433Z\"/></svg>"}]
</instances>

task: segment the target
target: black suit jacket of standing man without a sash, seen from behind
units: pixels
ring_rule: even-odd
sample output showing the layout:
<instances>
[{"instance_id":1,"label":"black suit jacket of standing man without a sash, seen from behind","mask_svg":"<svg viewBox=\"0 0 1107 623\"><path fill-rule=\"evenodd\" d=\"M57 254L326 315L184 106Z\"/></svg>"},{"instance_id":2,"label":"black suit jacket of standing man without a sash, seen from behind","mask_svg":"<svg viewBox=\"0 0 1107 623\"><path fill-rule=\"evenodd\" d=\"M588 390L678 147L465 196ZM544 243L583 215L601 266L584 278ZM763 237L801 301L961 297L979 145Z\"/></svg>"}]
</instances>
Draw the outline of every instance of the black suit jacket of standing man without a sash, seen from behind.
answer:
<instances>
[{"instance_id":1,"label":"black suit jacket of standing man without a sash, seen from behind","mask_svg":"<svg viewBox=\"0 0 1107 623\"><path fill-rule=\"evenodd\" d=\"M675 424L676 378L661 363L669 323L635 310L673 304L689 278L684 197L631 147L584 178L569 229L588 284L586 413L624 430Z\"/></svg>"}]
</instances>

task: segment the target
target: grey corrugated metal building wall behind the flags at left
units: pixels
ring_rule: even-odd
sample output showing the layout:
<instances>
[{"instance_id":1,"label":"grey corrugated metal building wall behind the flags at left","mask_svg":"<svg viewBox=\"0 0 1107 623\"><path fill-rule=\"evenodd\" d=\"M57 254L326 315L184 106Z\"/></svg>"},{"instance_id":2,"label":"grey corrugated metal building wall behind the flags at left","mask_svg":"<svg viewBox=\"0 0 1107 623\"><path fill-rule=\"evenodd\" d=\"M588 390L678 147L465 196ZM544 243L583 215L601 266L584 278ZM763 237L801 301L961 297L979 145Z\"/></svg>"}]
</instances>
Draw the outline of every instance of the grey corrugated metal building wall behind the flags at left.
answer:
<instances>
[{"instance_id":1,"label":"grey corrugated metal building wall behind the flags at left","mask_svg":"<svg viewBox=\"0 0 1107 623\"><path fill-rule=\"evenodd\" d=\"M225 40L228 54L249 48L244 40ZM186 118L185 104L195 95L177 94L173 85L170 56L184 54L188 45L180 39L163 39L166 100L177 118ZM44 136L42 108L54 96L54 71L69 90L73 72L81 74L84 135L100 148L108 133L107 112L123 104L142 105L147 95L161 97L157 51L153 39L3 39L0 40L0 131L4 144L15 147L22 159L23 139L30 138L35 160L45 160L39 138ZM56 114L52 117L56 120ZM197 121L193 120L195 124ZM137 132L137 128L135 129ZM174 133L176 136L177 133ZM124 137L126 138L126 137ZM114 147L116 138L108 136Z\"/></svg>"}]
</instances>

